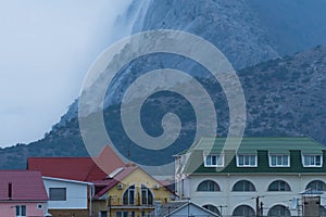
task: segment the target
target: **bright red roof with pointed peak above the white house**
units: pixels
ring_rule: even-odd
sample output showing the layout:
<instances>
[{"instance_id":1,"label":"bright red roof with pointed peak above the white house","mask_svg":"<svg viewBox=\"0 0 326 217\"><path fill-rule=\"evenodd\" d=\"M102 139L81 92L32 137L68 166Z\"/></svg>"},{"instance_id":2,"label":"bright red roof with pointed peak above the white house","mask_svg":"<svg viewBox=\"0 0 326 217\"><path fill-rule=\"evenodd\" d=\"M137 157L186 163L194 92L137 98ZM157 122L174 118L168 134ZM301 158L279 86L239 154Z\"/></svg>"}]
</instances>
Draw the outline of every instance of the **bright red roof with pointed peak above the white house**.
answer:
<instances>
[{"instance_id":1,"label":"bright red roof with pointed peak above the white house","mask_svg":"<svg viewBox=\"0 0 326 217\"><path fill-rule=\"evenodd\" d=\"M100 165L100 166L99 166ZM104 179L124 162L105 145L98 157L29 157L27 169L39 170L42 176L95 181Z\"/></svg>"}]
</instances>

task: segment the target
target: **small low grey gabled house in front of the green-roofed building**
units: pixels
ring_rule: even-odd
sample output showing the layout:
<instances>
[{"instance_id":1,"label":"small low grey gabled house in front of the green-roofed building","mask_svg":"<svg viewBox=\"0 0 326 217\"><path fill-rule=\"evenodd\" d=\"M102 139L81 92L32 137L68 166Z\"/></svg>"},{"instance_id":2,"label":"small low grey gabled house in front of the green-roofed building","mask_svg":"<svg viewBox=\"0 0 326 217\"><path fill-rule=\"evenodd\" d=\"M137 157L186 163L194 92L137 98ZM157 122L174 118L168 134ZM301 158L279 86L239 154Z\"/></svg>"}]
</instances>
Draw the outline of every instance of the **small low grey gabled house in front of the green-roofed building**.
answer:
<instances>
[{"instance_id":1,"label":"small low grey gabled house in front of the green-roofed building","mask_svg":"<svg viewBox=\"0 0 326 217\"><path fill-rule=\"evenodd\" d=\"M164 204L163 206L156 206L155 210L150 216L155 217L181 217L181 216L203 216L215 217L217 214L203 208L202 206L191 201L173 201Z\"/></svg>"}]
</instances>

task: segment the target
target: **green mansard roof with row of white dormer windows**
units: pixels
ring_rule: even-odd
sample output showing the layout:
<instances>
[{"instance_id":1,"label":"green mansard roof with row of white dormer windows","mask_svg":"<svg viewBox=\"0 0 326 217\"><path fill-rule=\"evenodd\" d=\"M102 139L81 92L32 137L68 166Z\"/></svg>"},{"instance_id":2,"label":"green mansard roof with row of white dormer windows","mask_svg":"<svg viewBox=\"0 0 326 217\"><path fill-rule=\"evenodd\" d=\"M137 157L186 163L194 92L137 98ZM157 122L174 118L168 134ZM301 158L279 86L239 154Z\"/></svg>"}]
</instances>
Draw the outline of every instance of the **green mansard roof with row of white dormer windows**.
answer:
<instances>
[{"instance_id":1,"label":"green mansard roof with row of white dormer windows","mask_svg":"<svg viewBox=\"0 0 326 217\"><path fill-rule=\"evenodd\" d=\"M180 153L190 154L184 173L216 173L216 168L204 167L203 156L206 154L225 155L224 168L218 173L326 173L326 146L306 137L279 137L279 138L239 138L229 139L229 145L224 148L226 138L202 138L188 151ZM237 149L238 148L238 149ZM237 167L237 154L256 154L258 167ZM269 167L268 154L289 154L290 167ZM323 154L324 153L324 154ZM303 167L301 154L323 154L323 167Z\"/></svg>"}]
</instances>

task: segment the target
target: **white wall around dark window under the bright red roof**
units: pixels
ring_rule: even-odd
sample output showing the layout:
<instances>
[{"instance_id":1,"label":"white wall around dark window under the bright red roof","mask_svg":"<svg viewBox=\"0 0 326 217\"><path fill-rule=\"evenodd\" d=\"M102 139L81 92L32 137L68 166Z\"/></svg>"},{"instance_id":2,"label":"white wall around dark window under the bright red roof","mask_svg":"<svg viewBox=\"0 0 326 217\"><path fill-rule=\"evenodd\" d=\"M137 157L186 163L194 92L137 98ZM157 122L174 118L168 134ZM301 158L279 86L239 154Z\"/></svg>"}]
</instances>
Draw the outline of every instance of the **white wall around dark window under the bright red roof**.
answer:
<instances>
[{"instance_id":1,"label":"white wall around dark window under the bright red roof","mask_svg":"<svg viewBox=\"0 0 326 217\"><path fill-rule=\"evenodd\" d=\"M45 179L45 187L49 195L50 188L66 188L66 201L50 201L49 209L86 209L87 208L87 184L74 183L63 180Z\"/></svg>"}]
</instances>

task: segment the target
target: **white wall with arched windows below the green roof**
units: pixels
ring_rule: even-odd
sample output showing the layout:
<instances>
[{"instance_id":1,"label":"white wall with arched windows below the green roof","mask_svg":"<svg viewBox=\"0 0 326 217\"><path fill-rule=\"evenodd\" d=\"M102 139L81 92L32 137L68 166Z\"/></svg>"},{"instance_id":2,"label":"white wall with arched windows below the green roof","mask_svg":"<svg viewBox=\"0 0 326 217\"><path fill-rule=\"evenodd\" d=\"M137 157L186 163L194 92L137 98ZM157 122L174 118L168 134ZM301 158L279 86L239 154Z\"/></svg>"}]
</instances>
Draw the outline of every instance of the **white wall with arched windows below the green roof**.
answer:
<instances>
[{"instance_id":1,"label":"white wall with arched windows below the green roof","mask_svg":"<svg viewBox=\"0 0 326 217\"><path fill-rule=\"evenodd\" d=\"M221 192L197 192L197 186L206 179L214 180L218 183ZM249 180L255 186L254 192L233 192L233 186L239 180ZM291 200L301 199L300 192L304 191L306 184L312 180L326 180L326 175L191 175L190 181L191 201L199 205L211 204L216 207L223 205L223 215L231 215L234 209L239 205L249 205L255 210L255 196L264 203L264 215L274 205L284 205L291 209ZM268 192L267 188L274 180L284 180L289 183L291 191ZM188 196L188 195L185 195ZM326 205L326 200L322 197L321 205ZM298 215L298 210L291 210L291 215Z\"/></svg>"}]
</instances>

